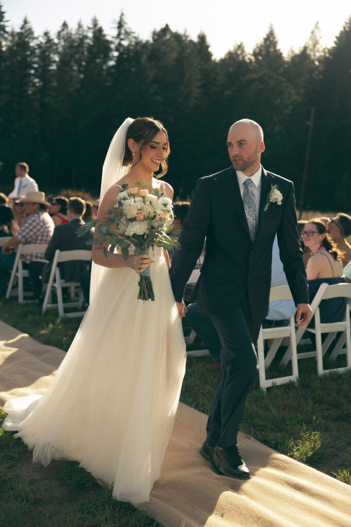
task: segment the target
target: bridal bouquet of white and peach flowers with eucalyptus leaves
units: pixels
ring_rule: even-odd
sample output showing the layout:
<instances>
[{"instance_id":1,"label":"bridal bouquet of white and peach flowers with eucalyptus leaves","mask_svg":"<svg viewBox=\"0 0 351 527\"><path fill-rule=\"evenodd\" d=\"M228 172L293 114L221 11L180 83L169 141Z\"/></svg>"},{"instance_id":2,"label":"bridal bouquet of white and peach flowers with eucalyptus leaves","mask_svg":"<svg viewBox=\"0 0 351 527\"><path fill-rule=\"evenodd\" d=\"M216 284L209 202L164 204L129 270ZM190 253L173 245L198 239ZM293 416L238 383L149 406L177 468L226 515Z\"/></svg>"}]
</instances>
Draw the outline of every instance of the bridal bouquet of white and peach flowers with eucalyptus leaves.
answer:
<instances>
[{"instance_id":1,"label":"bridal bouquet of white and peach flowers with eucalyptus leaves","mask_svg":"<svg viewBox=\"0 0 351 527\"><path fill-rule=\"evenodd\" d=\"M134 247L134 255L149 254L149 249L179 247L176 235L172 230L172 201L158 190L154 194L147 188L128 188L122 185L113 209L106 213L106 219L90 221L81 228L79 236L89 231L98 223L99 238L92 243L103 243L103 252L107 257L109 250L114 252L118 247L124 260L128 259L129 248ZM107 249L108 247L108 249ZM154 300L155 295L150 276L150 267L140 273L139 295L141 300Z\"/></svg>"}]
</instances>

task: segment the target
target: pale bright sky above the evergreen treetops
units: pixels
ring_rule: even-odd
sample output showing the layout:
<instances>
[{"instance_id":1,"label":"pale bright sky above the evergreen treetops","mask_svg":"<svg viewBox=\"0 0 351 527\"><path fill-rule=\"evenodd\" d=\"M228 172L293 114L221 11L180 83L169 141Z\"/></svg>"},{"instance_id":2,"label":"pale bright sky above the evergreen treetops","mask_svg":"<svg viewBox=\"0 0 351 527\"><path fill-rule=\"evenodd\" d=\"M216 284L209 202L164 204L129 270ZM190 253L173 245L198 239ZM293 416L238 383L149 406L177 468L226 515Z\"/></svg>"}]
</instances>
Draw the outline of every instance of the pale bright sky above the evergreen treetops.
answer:
<instances>
[{"instance_id":1,"label":"pale bright sky above the evergreen treetops","mask_svg":"<svg viewBox=\"0 0 351 527\"><path fill-rule=\"evenodd\" d=\"M143 39L165 24L194 39L204 32L215 58L240 42L252 51L270 24L284 54L291 48L298 51L316 22L322 43L330 47L351 15L350 0L0 0L0 4L10 28L17 30L27 16L36 35L45 30L54 34L64 20L70 27L79 20L89 25L93 16L105 33L113 35L113 21L123 11L128 25Z\"/></svg>"}]
</instances>

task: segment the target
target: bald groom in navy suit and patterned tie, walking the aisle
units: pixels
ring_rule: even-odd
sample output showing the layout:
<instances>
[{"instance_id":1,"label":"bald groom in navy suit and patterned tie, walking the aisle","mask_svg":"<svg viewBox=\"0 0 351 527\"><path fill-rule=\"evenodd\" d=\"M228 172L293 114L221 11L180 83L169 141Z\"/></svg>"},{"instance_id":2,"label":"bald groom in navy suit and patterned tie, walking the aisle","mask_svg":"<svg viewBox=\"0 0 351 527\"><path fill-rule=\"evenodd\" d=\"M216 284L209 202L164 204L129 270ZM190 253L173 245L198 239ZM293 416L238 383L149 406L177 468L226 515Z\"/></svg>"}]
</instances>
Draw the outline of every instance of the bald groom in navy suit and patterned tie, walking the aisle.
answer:
<instances>
[{"instance_id":1,"label":"bald groom in navy suit and patterned tie, walking the aisle","mask_svg":"<svg viewBox=\"0 0 351 527\"><path fill-rule=\"evenodd\" d=\"M170 279L182 316L183 289L206 237L197 305L211 315L222 352L207 438L200 453L218 474L249 479L250 472L237 448L237 434L246 398L258 374L254 345L268 313L276 233L297 306L297 324L307 324L312 311L292 182L261 166L265 144L255 121L234 123L227 147L232 167L197 182L182 225L181 250L172 259Z\"/></svg>"}]
</instances>

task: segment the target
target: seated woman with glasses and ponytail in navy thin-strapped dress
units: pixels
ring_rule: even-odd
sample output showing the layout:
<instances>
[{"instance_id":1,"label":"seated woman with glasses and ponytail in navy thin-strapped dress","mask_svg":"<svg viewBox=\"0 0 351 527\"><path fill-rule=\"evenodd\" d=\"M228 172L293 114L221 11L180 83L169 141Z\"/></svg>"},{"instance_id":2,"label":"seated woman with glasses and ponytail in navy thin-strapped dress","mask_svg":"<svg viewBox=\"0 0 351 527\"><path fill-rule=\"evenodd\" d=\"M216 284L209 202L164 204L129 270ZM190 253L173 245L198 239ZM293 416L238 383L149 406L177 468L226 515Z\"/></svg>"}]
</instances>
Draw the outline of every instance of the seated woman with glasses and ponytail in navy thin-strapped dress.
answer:
<instances>
[{"instance_id":1,"label":"seated woman with glasses and ponytail in navy thin-strapped dress","mask_svg":"<svg viewBox=\"0 0 351 527\"><path fill-rule=\"evenodd\" d=\"M321 284L345 283L342 252L327 232L327 227L318 218L306 223L303 230L305 245L313 253L307 264L308 295L311 303ZM345 299L330 298L319 305L322 323L337 322L345 317ZM311 325L311 323L310 323ZM313 327L313 325L312 325Z\"/></svg>"}]
</instances>

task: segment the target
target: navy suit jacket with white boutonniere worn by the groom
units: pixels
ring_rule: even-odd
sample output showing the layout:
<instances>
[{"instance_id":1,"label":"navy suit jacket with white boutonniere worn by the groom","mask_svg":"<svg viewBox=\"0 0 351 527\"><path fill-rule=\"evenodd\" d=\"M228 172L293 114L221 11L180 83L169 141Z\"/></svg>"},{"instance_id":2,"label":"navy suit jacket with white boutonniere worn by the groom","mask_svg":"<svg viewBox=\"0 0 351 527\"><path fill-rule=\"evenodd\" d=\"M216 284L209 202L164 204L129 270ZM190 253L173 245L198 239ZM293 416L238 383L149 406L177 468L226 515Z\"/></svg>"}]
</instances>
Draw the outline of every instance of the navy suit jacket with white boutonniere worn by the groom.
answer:
<instances>
[{"instance_id":1,"label":"navy suit jacket with white boutonniere worn by the groom","mask_svg":"<svg viewBox=\"0 0 351 527\"><path fill-rule=\"evenodd\" d=\"M264 207L271 185L278 184L282 203ZM262 168L258 230L252 243L238 178L233 167L200 178L180 236L181 249L172 258L174 298L183 289L206 252L198 283L198 307L204 313L228 316L247 290L253 321L268 314L272 246L278 236L279 255L295 304L308 304L304 253L297 233L294 184Z\"/></svg>"}]
</instances>

